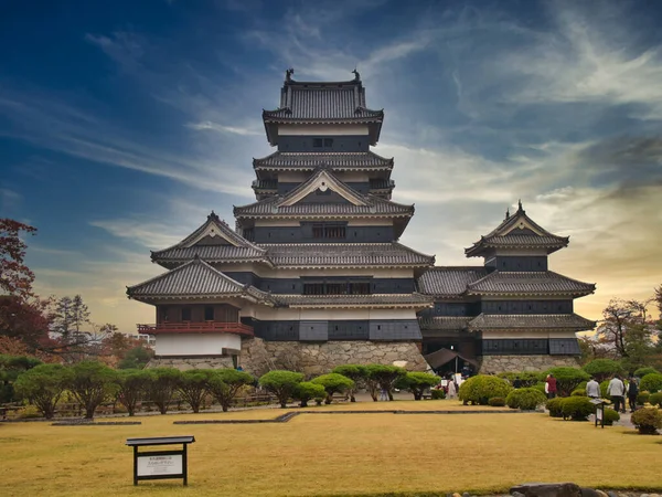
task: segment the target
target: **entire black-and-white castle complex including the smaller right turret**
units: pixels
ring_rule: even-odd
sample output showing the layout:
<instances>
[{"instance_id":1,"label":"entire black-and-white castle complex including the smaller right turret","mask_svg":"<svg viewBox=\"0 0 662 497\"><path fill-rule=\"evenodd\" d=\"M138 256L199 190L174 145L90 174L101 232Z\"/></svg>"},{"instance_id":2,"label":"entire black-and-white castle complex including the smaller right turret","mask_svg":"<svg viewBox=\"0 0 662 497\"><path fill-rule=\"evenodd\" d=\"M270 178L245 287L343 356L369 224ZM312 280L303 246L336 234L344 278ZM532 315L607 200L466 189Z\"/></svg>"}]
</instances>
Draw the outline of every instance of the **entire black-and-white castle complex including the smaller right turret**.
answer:
<instances>
[{"instance_id":1,"label":"entire black-and-white castle complex including the smaller right turret","mask_svg":"<svg viewBox=\"0 0 662 497\"><path fill-rule=\"evenodd\" d=\"M466 250L476 266L435 266L398 242L413 205L392 201L392 158L371 150L383 110L352 81L286 73L280 106L263 112L277 150L253 160L256 202L235 229L212 212L174 246L152 252L166 273L127 288L156 308L154 363L309 373L341 363L402 363L485 372L576 364L576 331L595 322L573 300L595 292L548 271L568 239L520 203ZM285 364L285 366L282 366Z\"/></svg>"}]
</instances>

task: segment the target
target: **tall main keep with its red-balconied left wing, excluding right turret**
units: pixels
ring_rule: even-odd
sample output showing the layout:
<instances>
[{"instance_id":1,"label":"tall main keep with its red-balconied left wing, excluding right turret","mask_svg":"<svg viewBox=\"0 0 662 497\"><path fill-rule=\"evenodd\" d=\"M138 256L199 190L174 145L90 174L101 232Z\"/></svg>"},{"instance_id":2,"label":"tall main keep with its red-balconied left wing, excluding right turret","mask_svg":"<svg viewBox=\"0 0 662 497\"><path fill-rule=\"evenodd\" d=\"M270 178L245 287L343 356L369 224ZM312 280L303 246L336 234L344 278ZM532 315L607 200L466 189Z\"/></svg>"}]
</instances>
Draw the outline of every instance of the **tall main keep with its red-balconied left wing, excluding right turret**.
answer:
<instances>
[{"instance_id":1,"label":"tall main keep with its red-balconied left wing, excluding right turret","mask_svg":"<svg viewBox=\"0 0 662 497\"><path fill-rule=\"evenodd\" d=\"M309 373L352 362L424 370L417 311L433 297L416 278L435 257L397 242L414 205L391 201L394 161L371 151L384 113L367 108L356 71L344 82L292 74L279 108L263 113L277 151L253 161L257 202L234 209L235 231L212 213L152 253L170 271L127 290L157 308L141 332L157 336L162 364L255 370L261 348Z\"/></svg>"}]
</instances>

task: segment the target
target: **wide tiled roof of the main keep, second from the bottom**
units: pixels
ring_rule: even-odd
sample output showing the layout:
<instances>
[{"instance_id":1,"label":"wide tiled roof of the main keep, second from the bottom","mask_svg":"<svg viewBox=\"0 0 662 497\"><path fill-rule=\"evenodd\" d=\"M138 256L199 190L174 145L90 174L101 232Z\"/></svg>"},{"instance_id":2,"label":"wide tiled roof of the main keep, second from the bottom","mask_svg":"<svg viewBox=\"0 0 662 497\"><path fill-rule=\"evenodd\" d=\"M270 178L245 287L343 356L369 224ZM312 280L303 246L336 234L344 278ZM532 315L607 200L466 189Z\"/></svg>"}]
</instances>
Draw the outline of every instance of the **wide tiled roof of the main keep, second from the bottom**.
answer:
<instances>
[{"instance_id":1,"label":"wide tiled roof of the main keep, second from the bottom","mask_svg":"<svg viewBox=\"0 0 662 497\"><path fill-rule=\"evenodd\" d=\"M435 256L392 243L260 244L276 267L424 267Z\"/></svg>"}]
</instances>

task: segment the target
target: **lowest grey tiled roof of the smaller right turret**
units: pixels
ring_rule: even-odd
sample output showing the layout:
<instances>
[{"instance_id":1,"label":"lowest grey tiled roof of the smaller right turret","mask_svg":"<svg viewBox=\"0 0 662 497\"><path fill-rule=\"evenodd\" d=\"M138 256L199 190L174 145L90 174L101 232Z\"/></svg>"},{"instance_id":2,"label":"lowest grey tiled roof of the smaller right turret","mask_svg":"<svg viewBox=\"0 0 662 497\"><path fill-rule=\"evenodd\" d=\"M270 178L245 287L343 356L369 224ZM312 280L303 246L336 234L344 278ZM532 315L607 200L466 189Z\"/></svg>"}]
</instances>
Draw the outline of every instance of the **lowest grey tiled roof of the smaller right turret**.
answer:
<instances>
[{"instance_id":1,"label":"lowest grey tiled roof of the smaller right turret","mask_svg":"<svg viewBox=\"0 0 662 497\"><path fill-rule=\"evenodd\" d=\"M566 329L586 331L594 329L595 321L576 314L502 315L481 314L469 322L470 329Z\"/></svg>"}]
</instances>

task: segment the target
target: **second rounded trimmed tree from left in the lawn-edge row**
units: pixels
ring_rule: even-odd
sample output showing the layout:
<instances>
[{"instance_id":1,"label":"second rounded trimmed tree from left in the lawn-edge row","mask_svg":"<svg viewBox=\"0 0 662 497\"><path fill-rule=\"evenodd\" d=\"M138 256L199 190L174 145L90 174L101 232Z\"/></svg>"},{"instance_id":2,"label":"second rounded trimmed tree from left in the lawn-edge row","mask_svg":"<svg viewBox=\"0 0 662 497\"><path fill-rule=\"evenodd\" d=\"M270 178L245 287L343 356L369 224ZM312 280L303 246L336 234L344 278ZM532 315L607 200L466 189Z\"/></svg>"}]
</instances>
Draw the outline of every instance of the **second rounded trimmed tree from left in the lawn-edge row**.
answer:
<instances>
[{"instance_id":1,"label":"second rounded trimmed tree from left in the lawn-edge row","mask_svg":"<svg viewBox=\"0 0 662 497\"><path fill-rule=\"evenodd\" d=\"M86 420L92 420L94 411L118 390L115 370L97 361L78 362L68 376L68 390L85 408Z\"/></svg>"}]
</instances>

